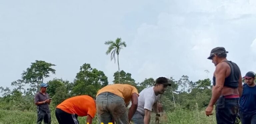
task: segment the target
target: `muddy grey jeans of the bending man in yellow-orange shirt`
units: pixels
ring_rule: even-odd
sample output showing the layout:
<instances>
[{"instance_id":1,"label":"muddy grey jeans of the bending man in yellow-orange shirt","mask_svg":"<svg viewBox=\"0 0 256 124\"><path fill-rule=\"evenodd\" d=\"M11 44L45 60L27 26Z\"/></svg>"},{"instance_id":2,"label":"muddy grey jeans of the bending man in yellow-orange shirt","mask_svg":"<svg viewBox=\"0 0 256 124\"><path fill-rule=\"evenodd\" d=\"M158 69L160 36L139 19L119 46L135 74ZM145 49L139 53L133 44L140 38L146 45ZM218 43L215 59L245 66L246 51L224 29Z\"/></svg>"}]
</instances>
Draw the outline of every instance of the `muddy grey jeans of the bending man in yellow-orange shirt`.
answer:
<instances>
[{"instance_id":1,"label":"muddy grey jeans of the bending man in yellow-orange shirt","mask_svg":"<svg viewBox=\"0 0 256 124\"><path fill-rule=\"evenodd\" d=\"M128 124L128 113L122 97L103 92L96 97L96 108L100 124L108 124L113 119L117 124Z\"/></svg>"}]
</instances>

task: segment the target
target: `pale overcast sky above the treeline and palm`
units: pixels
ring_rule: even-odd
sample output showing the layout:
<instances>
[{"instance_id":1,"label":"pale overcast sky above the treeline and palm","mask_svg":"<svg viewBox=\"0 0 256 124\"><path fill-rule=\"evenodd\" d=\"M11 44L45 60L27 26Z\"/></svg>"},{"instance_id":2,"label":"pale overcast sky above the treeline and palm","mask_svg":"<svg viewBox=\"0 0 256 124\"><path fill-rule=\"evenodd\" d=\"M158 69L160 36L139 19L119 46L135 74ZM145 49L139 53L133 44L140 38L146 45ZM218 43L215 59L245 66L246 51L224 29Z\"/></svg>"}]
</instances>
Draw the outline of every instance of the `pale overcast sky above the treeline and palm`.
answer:
<instances>
[{"instance_id":1,"label":"pale overcast sky above the treeline and palm","mask_svg":"<svg viewBox=\"0 0 256 124\"><path fill-rule=\"evenodd\" d=\"M35 60L56 64L73 82L90 63L112 83L117 63L104 42L121 37L120 70L136 82L188 75L211 78L212 48L225 47L228 60L245 75L256 71L255 0L55 0L0 1L0 86L11 87Z\"/></svg>"}]
</instances>

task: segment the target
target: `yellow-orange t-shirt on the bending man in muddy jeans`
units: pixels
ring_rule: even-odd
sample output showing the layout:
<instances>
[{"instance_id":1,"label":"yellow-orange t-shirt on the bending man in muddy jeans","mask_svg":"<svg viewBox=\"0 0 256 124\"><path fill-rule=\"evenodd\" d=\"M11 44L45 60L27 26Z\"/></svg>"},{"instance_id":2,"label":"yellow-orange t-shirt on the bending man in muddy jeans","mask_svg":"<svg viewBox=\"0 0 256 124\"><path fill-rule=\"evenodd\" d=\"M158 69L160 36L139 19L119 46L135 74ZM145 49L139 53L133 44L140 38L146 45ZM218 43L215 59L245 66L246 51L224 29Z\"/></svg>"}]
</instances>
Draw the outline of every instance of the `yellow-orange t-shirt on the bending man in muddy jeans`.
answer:
<instances>
[{"instance_id":1,"label":"yellow-orange t-shirt on the bending man in muddy jeans","mask_svg":"<svg viewBox=\"0 0 256 124\"><path fill-rule=\"evenodd\" d=\"M139 96L138 90L129 84L112 84L107 85L101 88L98 92L98 96L100 93L103 92L111 92L114 93L122 98L124 98L125 104L129 103L133 93L136 93Z\"/></svg>"}]
</instances>

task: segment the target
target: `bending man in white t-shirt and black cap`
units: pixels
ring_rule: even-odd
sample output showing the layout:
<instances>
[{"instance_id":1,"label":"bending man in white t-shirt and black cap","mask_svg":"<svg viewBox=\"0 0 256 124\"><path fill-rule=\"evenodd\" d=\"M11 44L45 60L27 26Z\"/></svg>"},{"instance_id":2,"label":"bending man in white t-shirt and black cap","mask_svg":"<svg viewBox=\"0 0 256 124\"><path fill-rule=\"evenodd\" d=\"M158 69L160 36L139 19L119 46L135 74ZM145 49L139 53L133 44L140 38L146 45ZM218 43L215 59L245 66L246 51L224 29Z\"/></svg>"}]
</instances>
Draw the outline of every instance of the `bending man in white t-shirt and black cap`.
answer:
<instances>
[{"instance_id":1,"label":"bending man in white t-shirt and black cap","mask_svg":"<svg viewBox=\"0 0 256 124\"><path fill-rule=\"evenodd\" d=\"M167 86L171 86L168 79L159 77L155 86L145 88L139 93L138 107L132 118L134 124L149 124L152 109L156 113L156 121L159 121L157 95L163 94Z\"/></svg>"}]
</instances>

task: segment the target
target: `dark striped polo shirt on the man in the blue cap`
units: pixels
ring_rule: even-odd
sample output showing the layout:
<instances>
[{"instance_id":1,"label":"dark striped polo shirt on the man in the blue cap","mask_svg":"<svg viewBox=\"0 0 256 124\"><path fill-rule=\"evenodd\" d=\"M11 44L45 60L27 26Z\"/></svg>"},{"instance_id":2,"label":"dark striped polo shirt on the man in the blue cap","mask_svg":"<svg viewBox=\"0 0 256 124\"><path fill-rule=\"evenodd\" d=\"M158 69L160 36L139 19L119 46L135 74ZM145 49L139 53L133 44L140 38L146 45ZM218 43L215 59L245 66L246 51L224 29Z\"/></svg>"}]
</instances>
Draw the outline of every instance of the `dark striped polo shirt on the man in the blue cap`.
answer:
<instances>
[{"instance_id":1,"label":"dark striped polo shirt on the man in the blue cap","mask_svg":"<svg viewBox=\"0 0 256 124\"><path fill-rule=\"evenodd\" d=\"M45 93L45 95L44 94L42 94L40 91L38 92L38 93L36 93L36 95L35 95L35 103L37 103L37 102L43 102L43 101L45 101L45 100L47 100L47 99L49 99L50 98L50 96L49 96L49 94L48 93ZM49 104L48 103L45 103L45 104L42 104L42 105L38 105L37 106L37 109L38 110L43 110L43 111L46 111L46 112L49 112L50 111L50 109L49 109Z\"/></svg>"}]
</instances>

